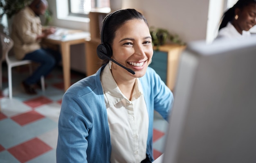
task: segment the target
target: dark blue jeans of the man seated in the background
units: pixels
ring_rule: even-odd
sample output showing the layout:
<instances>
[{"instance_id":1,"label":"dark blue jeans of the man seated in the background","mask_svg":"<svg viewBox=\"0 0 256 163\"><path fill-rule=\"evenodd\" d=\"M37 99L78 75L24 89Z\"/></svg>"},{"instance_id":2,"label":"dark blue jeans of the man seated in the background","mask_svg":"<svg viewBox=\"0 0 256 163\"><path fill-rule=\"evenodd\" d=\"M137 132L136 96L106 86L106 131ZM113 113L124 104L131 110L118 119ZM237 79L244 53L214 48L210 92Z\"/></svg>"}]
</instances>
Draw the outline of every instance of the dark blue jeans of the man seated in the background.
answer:
<instances>
[{"instance_id":1,"label":"dark blue jeans of the man seated in the background","mask_svg":"<svg viewBox=\"0 0 256 163\"><path fill-rule=\"evenodd\" d=\"M52 49L38 49L25 55L23 60L31 60L40 63L36 71L24 80L25 84L32 85L40 81L41 76L47 76L55 65L61 61L61 54Z\"/></svg>"}]
</instances>

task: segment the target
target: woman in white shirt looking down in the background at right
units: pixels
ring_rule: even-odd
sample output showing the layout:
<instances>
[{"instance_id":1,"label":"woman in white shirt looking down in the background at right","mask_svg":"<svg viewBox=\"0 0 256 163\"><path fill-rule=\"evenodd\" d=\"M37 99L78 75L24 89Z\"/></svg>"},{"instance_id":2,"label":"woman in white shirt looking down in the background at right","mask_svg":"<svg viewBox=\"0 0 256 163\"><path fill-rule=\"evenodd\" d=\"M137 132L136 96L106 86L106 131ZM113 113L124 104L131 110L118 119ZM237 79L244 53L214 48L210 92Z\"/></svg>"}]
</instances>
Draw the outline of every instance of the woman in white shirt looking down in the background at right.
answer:
<instances>
[{"instance_id":1,"label":"woman in white shirt looking down in the background at right","mask_svg":"<svg viewBox=\"0 0 256 163\"><path fill-rule=\"evenodd\" d=\"M256 0L238 0L224 13L217 38L250 37L249 30L255 25Z\"/></svg>"}]
</instances>

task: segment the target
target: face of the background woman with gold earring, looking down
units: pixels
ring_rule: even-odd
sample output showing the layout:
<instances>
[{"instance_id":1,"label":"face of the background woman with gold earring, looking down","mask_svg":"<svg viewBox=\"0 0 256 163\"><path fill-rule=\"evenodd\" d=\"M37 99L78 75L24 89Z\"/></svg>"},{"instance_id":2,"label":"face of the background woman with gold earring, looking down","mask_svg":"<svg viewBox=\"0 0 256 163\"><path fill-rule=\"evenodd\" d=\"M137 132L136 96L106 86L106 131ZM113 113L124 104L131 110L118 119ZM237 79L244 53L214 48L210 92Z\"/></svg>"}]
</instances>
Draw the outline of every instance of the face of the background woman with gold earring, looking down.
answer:
<instances>
[{"instance_id":1,"label":"face of the background woman with gold earring, looking down","mask_svg":"<svg viewBox=\"0 0 256 163\"><path fill-rule=\"evenodd\" d=\"M256 25L256 4L249 4L243 9L236 9L238 19L236 21L236 29L242 33L243 30L248 31Z\"/></svg>"}]
</instances>

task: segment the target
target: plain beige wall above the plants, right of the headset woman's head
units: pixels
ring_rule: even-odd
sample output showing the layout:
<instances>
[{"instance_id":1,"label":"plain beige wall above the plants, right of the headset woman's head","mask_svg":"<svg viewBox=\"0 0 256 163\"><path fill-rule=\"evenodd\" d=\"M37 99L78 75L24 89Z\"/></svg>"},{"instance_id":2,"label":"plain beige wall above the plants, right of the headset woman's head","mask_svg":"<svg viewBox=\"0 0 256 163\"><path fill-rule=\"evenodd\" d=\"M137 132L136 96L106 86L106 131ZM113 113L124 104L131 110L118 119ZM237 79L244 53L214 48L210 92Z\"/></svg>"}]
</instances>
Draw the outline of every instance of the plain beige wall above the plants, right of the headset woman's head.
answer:
<instances>
[{"instance_id":1,"label":"plain beige wall above the plants, right of the headset woman's head","mask_svg":"<svg viewBox=\"0 0 256 163\"><path fill-rule=\"evenodd\" d=\"M206 39L209 0L124 0L124 5L142 10L150 26L166 28L186 42Z\"/></svg>"}]
</instances>

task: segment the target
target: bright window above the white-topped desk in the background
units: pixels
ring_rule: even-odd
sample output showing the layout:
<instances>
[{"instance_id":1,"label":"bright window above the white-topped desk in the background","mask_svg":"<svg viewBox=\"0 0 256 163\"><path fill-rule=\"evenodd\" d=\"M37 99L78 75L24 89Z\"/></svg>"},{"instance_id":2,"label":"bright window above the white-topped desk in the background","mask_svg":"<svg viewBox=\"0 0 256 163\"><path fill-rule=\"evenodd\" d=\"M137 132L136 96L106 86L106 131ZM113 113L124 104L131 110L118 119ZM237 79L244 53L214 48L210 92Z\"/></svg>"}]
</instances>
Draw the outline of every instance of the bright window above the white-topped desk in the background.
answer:
<instances>
[{"instance_id":1,"label":"bright window above the white-topped desk in the background","mask_svg":"<svg viewBox=\"0 0 256 163\"><path fill-rule=\"evenodd\" d=\"M93 8L109 7L109 0L69 0L71 15L88 15Z\"/></svg>"}]
</instances>

